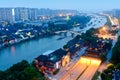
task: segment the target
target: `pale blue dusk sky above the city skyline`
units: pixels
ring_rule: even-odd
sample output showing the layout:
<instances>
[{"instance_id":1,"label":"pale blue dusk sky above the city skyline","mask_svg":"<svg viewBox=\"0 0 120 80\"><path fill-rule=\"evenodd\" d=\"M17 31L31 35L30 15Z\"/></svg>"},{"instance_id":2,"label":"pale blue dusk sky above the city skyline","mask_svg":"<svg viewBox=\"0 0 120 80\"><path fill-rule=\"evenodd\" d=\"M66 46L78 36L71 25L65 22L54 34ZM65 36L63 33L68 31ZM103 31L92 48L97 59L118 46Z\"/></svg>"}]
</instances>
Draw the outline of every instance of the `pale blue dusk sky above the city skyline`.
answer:
<instances>
[{"instance_id":1,"label":"pale blue dusk sky above the city skyline","mask_svg":"<svg viewBox=\"0 0 120 80\"><path fill-rule=\"evenodd\" d=\"M110 10L120 9L120 0L0 0L0 7Z\"/></svg>"}]
</instances>

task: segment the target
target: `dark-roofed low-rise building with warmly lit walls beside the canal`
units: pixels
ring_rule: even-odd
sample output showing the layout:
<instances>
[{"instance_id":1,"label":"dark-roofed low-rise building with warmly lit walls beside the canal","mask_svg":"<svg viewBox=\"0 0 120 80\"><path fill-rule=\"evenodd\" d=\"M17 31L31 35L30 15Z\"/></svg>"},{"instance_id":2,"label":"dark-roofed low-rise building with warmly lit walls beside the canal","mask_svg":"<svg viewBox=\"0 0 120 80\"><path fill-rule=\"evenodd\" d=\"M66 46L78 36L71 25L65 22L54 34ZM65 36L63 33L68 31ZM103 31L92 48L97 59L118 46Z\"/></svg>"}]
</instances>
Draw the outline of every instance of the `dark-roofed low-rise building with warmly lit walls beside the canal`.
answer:
<instances>
[{"instance_id":1,"label":"dark-roofed low-rise building with warmly lit walls beside the canal","mask_svg":"<svg viewBox=\"0 0 120 80\"><path fill-rule=\"evenodd\" d=\"M36 67L43 73L53 73L70 62L70 53L58 49L48 55L40 55L35 59Z\"/></svg>"}]
</instances>

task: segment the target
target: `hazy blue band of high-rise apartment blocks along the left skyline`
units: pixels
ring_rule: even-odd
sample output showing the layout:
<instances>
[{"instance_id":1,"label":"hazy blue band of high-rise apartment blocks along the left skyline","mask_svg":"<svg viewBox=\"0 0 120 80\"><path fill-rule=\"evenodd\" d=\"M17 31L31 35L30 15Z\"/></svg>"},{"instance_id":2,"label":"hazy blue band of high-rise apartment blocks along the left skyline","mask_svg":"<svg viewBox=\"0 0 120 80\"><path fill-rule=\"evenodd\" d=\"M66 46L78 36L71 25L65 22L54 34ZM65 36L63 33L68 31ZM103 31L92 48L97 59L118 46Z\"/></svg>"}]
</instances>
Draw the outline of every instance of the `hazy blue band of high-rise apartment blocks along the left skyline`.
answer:
<instances>
[{"instance_id":1,"label":"hazy blue band of high-rise apartment blocks along the left skyline","mask_svg":"<svg viewBox=\"0 0 120 80\"><path fill-rule=\"evenodd\" d=\"M45 8L0 8L0 21L34 21L37 20L39 16L53 16L58 14L76 14L75 10L52 10Z\"/></svg>"}]
</instances>

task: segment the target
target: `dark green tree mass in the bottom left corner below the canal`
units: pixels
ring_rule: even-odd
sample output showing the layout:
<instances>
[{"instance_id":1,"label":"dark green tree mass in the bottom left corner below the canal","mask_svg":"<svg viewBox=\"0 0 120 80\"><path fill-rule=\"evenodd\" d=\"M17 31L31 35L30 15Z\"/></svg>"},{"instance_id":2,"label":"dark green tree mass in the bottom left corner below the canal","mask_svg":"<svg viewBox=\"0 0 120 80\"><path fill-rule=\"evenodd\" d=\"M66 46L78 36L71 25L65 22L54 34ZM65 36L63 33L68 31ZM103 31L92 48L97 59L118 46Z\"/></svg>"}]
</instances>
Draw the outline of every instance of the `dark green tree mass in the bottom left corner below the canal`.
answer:
<instances>
[{"instance_id":1,"label":"dark green tree mass in the bottom left corner below the canal","mask_svg":"<svg viewBox=\"0 0 120 80\"><path fill-rule=\"evenodd\" d=\"M34 64L23 60L5 71L0 71L0 80L45 80Z\"/></svg>"}]
</instances>

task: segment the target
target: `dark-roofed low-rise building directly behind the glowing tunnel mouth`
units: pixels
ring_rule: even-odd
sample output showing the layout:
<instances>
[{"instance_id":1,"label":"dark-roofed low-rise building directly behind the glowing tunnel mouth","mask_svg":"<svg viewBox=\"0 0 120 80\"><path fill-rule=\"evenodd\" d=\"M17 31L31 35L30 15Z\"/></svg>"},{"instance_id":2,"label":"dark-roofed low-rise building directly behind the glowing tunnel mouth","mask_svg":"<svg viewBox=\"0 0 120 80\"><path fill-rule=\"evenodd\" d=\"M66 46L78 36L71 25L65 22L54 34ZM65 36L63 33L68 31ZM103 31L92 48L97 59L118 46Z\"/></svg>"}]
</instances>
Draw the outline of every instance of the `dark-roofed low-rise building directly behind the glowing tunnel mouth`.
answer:
<instances>
[{"instance_id":1,"label":"dark-roofed low-rise building directly behind the glowing tunnel mouth","mask_svg":"<svg viewBox=\"0 0 120 80\"><path fill-rule=\"evenodd\" d=\"M106 40L98 40L96 43L90 44L87 47L85 55L99 57L100 55L104 54L105 52L107 52L109 50L109 48L110 48L110 46L108 46L109 44L110 44L109 40L107 40L107 41Z\"/></svg>"}]
</instances>

